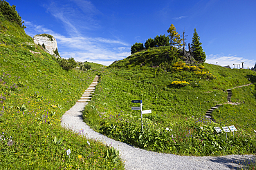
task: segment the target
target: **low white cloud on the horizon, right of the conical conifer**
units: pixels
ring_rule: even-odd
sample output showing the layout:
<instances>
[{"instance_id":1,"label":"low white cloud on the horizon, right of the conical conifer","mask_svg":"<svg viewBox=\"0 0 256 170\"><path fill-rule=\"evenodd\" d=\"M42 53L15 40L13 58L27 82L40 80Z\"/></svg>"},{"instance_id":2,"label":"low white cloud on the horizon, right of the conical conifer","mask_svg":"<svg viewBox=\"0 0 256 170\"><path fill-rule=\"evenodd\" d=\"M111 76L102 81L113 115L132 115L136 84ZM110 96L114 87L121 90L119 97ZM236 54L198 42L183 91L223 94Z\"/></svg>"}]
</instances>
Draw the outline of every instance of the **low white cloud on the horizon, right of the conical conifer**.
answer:
<instances>
[{"instance_id":1,"label":"low white cloud on the horizon, right of the conical conifer","mask_svg":"<svg viewBox=\"0 0 256 170\"><path fill-rule=\"evenodd\" d=\"M234 67L233 64L241 64L241 62L244 62L244 68L251 68L254 67L256 61L255 60L250 60L250 59L245 59L243 57L239 57L236 55L231 55L229 54L228 56L225 56L223 54L210 54L209 56L206 57L206 63L210 64L215 64L215 65L221 65L221 66L226 66L230 65L230 67ZM241 65L240 65L241 67Z\"/></svg>"}]
</instances>

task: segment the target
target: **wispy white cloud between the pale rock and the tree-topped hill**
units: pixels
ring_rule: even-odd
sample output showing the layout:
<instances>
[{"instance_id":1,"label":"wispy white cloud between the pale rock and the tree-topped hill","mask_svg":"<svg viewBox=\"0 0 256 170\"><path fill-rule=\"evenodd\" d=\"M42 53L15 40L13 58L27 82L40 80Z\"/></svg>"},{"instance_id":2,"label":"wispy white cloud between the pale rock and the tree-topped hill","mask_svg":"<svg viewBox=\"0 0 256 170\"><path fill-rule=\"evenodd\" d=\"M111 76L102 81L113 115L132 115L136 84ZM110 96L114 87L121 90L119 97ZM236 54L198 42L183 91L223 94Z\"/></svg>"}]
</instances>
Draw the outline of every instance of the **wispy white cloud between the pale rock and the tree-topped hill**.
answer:
<instances>
[{"instance_id":1,"label":"wispy white cloud between the pale rock and the tree-topped hill","mask_svg":"<svg viewBox=\"0 0 256 170\"><path fill-rule=\"evenodd\" d=\"M30 21L25 21L25 24L26 33L32 37L42 33L53 35L57 40L60 56L65 59L73 57L75 61L110 65L113 61L125 59L131 54L127 43L120 40L86 36L67 37L45 28L44 25L35 25Z\"/></svg>"}]
</instances>

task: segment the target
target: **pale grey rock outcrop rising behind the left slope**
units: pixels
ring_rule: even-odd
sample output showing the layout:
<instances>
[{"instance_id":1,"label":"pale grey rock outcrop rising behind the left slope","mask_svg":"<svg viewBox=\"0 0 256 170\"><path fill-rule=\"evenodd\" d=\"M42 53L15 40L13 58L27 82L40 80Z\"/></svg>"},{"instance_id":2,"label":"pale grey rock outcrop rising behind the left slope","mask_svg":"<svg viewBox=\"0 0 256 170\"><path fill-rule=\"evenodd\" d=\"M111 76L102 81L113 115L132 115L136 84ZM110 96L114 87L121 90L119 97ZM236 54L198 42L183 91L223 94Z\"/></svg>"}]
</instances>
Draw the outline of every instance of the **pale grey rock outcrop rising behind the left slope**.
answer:
<instances>
[{"instance_id":1,"label":"pale grey rock outcrop rising behind the left slope","mask_svg":"<svg viewBox=\"0 0 256 170\"><path fill-rule=\"evenodd\" d=\"M35 44L40 44L43 47L45 46L45 50L49 54L51 55L55 54L55 50L57 50L57 41L53 36L49 34L39 34L39 35L35 35L33 37L33 40Z\"/></svg>"}]
</instances>

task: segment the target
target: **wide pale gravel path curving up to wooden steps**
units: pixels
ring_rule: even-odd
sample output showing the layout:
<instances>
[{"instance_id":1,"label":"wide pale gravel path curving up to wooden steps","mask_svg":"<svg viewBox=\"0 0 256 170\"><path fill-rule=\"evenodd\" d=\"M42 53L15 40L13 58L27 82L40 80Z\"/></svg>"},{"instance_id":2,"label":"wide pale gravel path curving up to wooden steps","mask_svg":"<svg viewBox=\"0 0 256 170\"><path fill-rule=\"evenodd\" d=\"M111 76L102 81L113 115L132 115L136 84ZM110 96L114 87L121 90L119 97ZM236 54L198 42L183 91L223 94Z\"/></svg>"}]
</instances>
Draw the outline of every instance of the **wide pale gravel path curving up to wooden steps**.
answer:
<instances>
[{"instance_id":1,"label":"wide pale gravel path curving up to wooden steps","mask_svg":"<svg viewBox=\"0 0 256 170\"><path fill-rule=\"evenodd\" d=\"M125 161L125 169L241 169L241 164L252 161L253 155L229 155L229 156L177 156L170 153L157 153L147 151L124 142L119 142L108 138L96 131L93 131L82 120L82 111L89 103L95 86L98 84L98 76L82 95L82 98L75 105L66 111L62 116L61 125L66 129L71 129L75 133L80 133L83 129L83 136L98 140L105 145L112 146L120 151L120 157Z\"/></svg>"}]
</instances>

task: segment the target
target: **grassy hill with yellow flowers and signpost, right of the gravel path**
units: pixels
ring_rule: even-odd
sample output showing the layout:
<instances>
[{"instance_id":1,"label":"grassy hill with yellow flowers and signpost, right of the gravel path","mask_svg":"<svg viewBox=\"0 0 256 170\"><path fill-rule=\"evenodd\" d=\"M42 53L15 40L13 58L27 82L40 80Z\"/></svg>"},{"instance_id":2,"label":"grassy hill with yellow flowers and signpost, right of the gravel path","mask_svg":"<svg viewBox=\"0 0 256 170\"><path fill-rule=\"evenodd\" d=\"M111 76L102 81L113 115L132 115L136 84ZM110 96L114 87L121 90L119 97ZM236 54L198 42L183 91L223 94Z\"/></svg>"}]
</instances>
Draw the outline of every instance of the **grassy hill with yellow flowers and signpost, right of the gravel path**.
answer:
<instances>
[{"instance_id":1,"label":"grassy hill with yellow flowers and signpost, right of the gravel path","mask_svg":"<svg viewBox=\"0 0 256 170\"><path fill-rule=\"evenodd\" d=\"M154 51L159 59L165 58L161 56L167 52L165 47L150 50ZM152 151L194 156L255 153L256 72L207 63L165 61L155 66L153 61L147 63L155 56L145 57L145 53L113 63L102 72L93 102L84 110L86 123L110 138ZM144 61L145 66L140 64ZM245 87L249 88L246 92L234 89L232 100L240 105L223 105L222 116L213 114L215 121L205 118L208 109L228 102L227 89L249 83L253 84ZM140 111L131 110L139 106L131 100L140 99L143 110L152 109L152 114L143 114L143 131ZM230 125L238 131L235 136L228 133L227 139L223 131L217 134L214 130Z\"/></svg>"}]
</instances>

